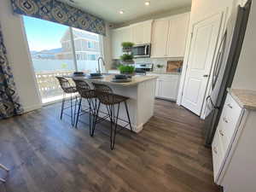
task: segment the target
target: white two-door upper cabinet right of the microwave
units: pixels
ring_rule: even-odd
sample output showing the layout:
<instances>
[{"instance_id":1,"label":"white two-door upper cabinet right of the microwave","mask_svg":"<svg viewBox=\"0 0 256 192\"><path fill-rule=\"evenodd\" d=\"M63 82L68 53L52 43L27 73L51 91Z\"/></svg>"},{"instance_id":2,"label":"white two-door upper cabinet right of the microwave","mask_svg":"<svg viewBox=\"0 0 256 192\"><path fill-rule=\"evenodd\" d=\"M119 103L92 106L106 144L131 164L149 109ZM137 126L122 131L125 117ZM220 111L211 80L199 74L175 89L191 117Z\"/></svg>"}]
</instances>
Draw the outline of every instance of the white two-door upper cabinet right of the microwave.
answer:
<instances>
[{"instance_id":1,"label":"white two-door upper cabinet right of the microwave","mask_svg":"<svg viewBox=\"0 0 256 192\"><path fill-rule=\"evenodd\" d=\"M151 57L183 57L189 31L189 15L154 20Z\"/></svg>"}]
</instances>

